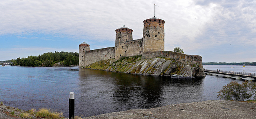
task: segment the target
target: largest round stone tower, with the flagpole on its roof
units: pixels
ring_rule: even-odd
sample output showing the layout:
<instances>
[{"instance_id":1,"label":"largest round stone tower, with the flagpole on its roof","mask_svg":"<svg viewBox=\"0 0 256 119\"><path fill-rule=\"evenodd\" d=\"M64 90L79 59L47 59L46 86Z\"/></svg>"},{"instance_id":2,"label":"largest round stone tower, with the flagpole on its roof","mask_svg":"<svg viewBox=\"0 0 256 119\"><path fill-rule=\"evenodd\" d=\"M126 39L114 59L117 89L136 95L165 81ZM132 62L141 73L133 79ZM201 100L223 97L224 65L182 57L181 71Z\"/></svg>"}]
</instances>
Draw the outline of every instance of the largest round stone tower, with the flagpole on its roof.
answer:
<instances>
[{"instance_id":1,"label":"largest round stone tower, with the flagpole on its roof","mask_svg":"<svg viewBox=\"0 0 256 119\"><path fill-rule=\"evenodd\" d=\"M156 17L143 21L143 52L164 51L164 22Z\"/></svg>"}]
</instances>

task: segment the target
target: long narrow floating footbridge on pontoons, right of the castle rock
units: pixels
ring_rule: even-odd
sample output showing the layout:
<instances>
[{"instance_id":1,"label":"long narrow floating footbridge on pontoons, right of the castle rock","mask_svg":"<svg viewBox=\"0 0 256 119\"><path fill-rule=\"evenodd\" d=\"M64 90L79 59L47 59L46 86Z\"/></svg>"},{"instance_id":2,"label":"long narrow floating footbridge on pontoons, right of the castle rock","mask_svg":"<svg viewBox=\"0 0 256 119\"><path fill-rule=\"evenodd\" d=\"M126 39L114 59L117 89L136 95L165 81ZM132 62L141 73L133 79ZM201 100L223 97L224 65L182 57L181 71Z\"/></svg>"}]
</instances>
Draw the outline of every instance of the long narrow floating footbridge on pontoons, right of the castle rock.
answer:
<instances>
[{"instance_id":1,"label":"long narrow floating footbridge on pontoons, right of the castle rock","mask_svg":"<svg viewBox=\"0 0 256 119\"><path fill-rule=\"evenodd\" d=\"M222 70L217 71L217 70L208 70L208 69L204 69L204 72L217 73L217 74L230 75L230 76L240 76L240 77L246 77L246 78L256 78L255 73L232 72L232 71L222 71Z\"/></svg>"}]
</instances>

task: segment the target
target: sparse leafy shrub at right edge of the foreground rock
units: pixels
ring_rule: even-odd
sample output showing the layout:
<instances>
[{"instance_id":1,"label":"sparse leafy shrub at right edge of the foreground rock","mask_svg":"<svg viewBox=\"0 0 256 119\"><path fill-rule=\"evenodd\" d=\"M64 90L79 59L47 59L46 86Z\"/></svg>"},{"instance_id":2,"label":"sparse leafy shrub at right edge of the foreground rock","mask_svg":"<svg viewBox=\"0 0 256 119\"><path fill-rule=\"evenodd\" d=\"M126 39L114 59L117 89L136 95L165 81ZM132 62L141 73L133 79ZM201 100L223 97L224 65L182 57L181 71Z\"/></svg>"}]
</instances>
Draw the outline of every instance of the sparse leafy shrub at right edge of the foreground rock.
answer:
<instances>
[{"instance_id":1,"label":"sparse leafy shrub at right edge of the foreground rock","mask_svg":"<svg viewBox=\"0 0 256 119\"><path fill-rule=\"evenodd\" d=\"M230 82L218 92L218 97L224 100L236 100L243 101L244 99L250 99L252 93L250 92L248 82L239 84L238 82Z\"/></svg>"}]
</instances>

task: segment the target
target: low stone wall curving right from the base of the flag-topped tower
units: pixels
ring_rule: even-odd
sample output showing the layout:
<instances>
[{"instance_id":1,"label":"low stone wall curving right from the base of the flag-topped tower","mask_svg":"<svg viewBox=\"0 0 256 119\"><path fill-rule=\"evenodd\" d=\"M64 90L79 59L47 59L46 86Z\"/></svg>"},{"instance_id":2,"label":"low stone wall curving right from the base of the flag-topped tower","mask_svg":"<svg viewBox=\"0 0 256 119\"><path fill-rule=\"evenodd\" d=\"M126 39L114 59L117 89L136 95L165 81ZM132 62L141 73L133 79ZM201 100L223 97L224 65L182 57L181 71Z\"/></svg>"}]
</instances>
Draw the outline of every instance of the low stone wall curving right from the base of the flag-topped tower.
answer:
<instances>
[{"instance_id":1,"label":"low stone wall curving right from the base of the flag-topped tower","mask_svg":"<svg viewBox=\"0 0 256 119\"><path fill-rule=\"evenodd\" d=\"M183 53L178 53L173 51L157 51L157 52L143 53L143 56L146 59L152 58L152 57L166 57L166 58L180 61L190 66L193 66L195 64L196 66L199 66L200 68L203 69L202 57L199 55L186 55Z\"/></svg>"}]
</instances>

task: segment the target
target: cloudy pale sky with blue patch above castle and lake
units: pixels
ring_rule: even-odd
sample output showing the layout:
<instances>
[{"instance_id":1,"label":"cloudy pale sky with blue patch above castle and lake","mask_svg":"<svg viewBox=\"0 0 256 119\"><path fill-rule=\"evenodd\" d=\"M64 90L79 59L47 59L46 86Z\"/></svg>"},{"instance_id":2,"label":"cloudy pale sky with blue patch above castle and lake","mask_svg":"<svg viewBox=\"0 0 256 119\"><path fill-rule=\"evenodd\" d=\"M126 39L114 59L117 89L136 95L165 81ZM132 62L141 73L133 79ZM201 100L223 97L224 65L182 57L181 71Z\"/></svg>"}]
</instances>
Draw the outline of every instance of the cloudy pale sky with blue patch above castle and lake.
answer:
<instances>
[{"instance_id":1,"label":"cloudy pale sky with blue patch above castle and lake","mask_svg":"<svg viewBox=\"0 0 256 119\"><path fill-rule=\"evenodd\" d=\"M141 39L143 20L165 21L165 51L202 62L256 62L256 0L0 0L0 60L115 46L125 25Z\"/></svg>"}]
</instances>

